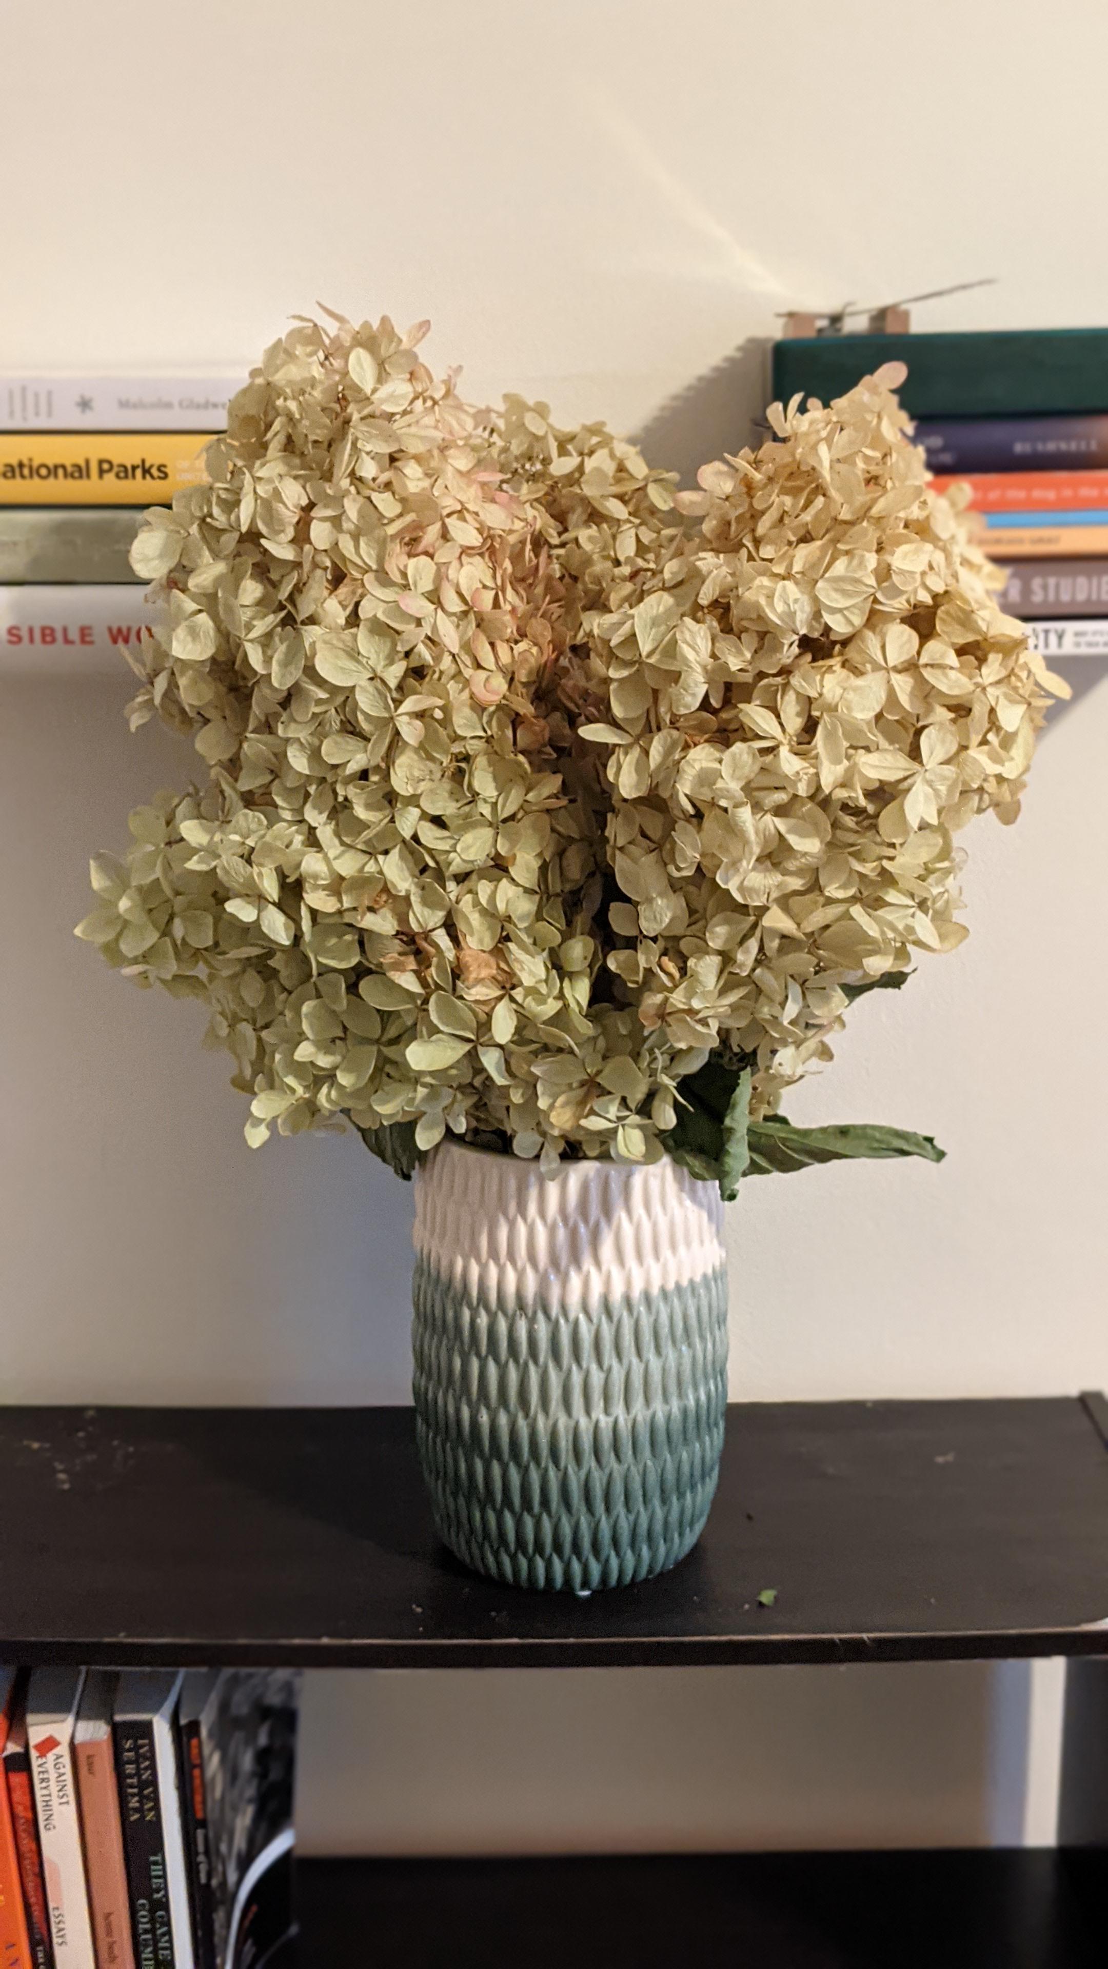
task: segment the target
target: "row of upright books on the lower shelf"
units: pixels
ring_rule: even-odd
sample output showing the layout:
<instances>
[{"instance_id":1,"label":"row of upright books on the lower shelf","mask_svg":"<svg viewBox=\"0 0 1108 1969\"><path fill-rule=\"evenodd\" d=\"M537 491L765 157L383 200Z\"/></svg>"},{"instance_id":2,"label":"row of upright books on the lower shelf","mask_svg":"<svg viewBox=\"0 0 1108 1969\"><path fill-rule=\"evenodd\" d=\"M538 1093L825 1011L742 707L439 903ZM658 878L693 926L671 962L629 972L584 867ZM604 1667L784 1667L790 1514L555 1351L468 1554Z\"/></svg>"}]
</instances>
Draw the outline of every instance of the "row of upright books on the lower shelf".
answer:
<instances>
[{"instance_id":1,"label":"row of upright books on the lower shelf","mask_svg":"<svg viewBox=\"0 0 1108 1969\"><path fill-rule=\"evenodd\" d=\"M284 1670L0 1670L2 1969L276 1969L298 1697Z\"/></svg>"}]
</instances>

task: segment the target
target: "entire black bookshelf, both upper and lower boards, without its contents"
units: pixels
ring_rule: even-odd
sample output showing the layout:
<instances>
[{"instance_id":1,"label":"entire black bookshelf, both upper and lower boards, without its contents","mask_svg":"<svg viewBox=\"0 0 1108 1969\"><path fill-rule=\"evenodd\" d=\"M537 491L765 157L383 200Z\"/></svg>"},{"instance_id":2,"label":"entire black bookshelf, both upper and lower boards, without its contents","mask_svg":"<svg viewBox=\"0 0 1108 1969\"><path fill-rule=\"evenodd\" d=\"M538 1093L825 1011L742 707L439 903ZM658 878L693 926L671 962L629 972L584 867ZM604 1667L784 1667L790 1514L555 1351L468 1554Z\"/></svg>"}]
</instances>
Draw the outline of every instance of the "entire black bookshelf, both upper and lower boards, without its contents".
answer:
<instances>
[{"instance_id":1,"label":"entire black bookshelf, both upper and lower boards, without its contents","mask_svg":"<svg viewBox=\"0 0 1108 1969\"><path fill-rule=\"evenodd\" d=\"M1063 1823L1074 1847L1108 1837L1104 1396L735 1404L696 1552L591 1599L517 1593L444 1552L404 1408L6 1408L0 1496L0 1660L1069 1656ZM791 1969L1080 1969L1108 1873L1086 1859L306 1861L298 1959L343 1959L353 1922L408 1969L544 1969L570 1953L611 1969L615 1932L637 1969L680 1959L680 1937L702 1965L747 1943Z\"/></svg>"}]
</instances>

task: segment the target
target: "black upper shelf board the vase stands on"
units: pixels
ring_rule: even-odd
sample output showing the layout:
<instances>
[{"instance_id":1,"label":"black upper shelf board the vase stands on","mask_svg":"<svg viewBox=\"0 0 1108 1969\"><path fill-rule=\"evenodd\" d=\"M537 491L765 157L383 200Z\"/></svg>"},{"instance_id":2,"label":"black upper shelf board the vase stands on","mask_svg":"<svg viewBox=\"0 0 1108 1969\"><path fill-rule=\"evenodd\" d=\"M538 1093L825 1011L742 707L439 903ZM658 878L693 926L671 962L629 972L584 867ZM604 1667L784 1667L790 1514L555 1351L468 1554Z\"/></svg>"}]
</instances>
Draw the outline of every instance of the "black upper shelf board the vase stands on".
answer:
<instances>
[{"instance_id":1,"label":"black upper shelf board the vase stands on","mask_svg":"<svg viewBox=\"0 0 1108 1969\"><path fill-rule=\"evenodd\" d=\"M467 1573L412 1412L0 1410L0 1660L351 1668L1108 1652L1100 1396L745 1404L690 1557ZM775 1589L773 1607L759 1593Z\"/></svg>"}]
</instances>

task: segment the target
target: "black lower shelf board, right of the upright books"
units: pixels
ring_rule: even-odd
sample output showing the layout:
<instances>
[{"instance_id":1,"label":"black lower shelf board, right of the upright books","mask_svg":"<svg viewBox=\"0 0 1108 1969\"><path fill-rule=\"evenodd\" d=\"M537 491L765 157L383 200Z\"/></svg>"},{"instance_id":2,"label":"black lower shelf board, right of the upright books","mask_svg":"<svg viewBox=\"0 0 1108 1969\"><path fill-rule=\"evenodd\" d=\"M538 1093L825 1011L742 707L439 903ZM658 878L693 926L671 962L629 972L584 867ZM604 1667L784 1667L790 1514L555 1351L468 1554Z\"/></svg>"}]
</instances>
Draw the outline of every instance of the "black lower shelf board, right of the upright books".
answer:
<instances>
[{"instance_id":1,"label":"black lower shelf board, right of the upright books","mask_svg":"<svg viewBox=\"0 0 1108 1969\"><path fill-rule=\"evenodd\" d=\"M1104 1969L1100 1853L300 1863L298 1969Z\"/></svg>"}]
</instances>

